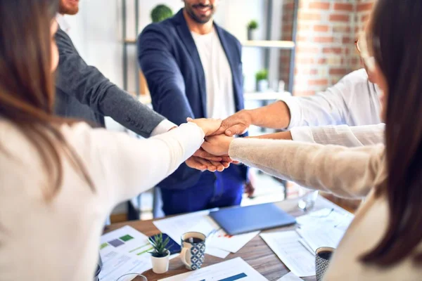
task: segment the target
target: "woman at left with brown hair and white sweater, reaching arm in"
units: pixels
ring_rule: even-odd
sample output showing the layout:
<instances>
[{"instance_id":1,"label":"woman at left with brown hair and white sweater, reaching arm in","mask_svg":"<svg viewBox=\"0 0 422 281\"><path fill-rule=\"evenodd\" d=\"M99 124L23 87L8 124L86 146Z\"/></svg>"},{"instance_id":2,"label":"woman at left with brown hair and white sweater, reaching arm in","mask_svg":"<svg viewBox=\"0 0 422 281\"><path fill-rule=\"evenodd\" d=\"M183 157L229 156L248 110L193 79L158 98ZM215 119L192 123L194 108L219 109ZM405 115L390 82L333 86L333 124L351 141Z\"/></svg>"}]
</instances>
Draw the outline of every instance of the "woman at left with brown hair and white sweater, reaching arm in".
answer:
<instances>
[{"instance_id":1,"label":"woman at left with brown hair and white sweater, reaching arm in","mask_svg":"<svg viewBox=\"0 0 422 281\"><path fill-rule=\"evenodd\" d=\"M92 280L107 214L221 121L139 141L53 116L58 0L0 0L0 280ZM77 81L75 81L77 83Z\"/></svg>"}]
</instances>

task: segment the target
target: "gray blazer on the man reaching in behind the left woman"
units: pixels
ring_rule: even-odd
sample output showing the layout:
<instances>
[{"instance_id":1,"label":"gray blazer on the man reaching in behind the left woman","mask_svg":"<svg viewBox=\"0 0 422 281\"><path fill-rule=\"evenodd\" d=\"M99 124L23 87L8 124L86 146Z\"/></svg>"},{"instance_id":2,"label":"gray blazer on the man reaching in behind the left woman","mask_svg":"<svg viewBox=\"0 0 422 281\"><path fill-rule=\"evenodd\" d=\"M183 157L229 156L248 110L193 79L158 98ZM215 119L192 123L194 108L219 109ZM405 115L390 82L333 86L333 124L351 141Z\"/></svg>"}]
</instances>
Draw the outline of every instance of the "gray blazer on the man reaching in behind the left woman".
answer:
<instances>
[{"instance_id":1,"label":"gray blazer on the man reaching in behind the left woman","mask_svg":"<svg viewBox=\"0 0 422 281\"><path fill-rule=\"evenodd\" d=\"M56 113L104 126L104 117L148 137L165 119L123 91L80 57L63 30L56 33L60 60L56 77Z\"/></svg>"}]
</instances>

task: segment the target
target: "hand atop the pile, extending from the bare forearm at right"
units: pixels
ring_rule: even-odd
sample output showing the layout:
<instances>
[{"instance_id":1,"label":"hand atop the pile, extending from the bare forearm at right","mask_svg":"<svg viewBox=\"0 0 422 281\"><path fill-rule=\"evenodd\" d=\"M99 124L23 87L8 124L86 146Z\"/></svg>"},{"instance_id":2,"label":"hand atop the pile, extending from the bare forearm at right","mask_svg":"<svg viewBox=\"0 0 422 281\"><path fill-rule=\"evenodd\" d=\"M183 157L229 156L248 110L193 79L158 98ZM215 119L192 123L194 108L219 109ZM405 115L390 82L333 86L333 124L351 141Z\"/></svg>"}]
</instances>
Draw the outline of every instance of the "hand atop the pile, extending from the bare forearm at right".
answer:
<instances>
[{"instance_id":1,"label":"hand atop the pile, extending from the bare forearm at right","mask_svg":"<svg viewBox=\"0 0 422 281\"><path fill-rule=\"evenodd\" d=\"M248 110L241 110L236 112L231 117L222 122L222 126L212 136L221 135L225 133L226 136L241 135L248 131L249 126L252 124L252 117Z\"/></svg>"}]
</instances>

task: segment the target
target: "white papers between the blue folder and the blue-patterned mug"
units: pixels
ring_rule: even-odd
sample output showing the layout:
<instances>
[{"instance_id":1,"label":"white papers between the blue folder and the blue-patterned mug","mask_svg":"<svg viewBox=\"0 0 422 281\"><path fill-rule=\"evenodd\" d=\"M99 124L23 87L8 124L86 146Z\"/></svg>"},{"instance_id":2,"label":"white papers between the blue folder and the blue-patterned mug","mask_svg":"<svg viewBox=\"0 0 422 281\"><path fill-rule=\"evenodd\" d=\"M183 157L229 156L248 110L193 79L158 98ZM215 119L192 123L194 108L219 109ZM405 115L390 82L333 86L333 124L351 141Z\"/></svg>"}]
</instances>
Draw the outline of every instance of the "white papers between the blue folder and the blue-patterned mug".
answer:
<instances>
[{"instance_id":1,"label":"white papers between the blue folder and the blue-patterned mug","mask_svg":"<svg viewBox=\"0 0 422 281\"><path fill-rule=\"evenodd\" d=\"M242 235L227 235L208 216L209 214L210 211L198 211L192 214L154 221L154 224L162 233L166 233L179 244L181 243L180 237L184 233L195 231L205 234L207 236L206 253L221 259L225 259L230 253L236 253L260 233L259 231L255 231Z\"/></svg>"}]
</instances>

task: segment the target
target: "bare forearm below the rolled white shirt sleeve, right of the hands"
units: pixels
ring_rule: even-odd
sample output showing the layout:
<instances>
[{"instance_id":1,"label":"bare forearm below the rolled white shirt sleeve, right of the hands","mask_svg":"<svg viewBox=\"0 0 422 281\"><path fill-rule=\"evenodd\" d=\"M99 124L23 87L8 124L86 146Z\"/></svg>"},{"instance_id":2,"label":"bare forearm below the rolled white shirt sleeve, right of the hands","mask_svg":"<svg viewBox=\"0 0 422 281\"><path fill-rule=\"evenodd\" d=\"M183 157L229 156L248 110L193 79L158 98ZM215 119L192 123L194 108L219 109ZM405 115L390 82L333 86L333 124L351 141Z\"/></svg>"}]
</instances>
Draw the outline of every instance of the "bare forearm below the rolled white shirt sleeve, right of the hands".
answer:
<instances>
[{"instance_id":1,"label":"bare forearm below the rolled white shirt sleeve, right of the hands","mask_svg":"<svg viewBox=\"0 0 422 281\"><path fill-rule=\"evenodd\" d=\"M290 110L283 101L271 103L254 110L247 110L251 123L271 129L286 129L290 124Z\"/></svg>"}]
</instances>

